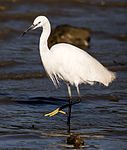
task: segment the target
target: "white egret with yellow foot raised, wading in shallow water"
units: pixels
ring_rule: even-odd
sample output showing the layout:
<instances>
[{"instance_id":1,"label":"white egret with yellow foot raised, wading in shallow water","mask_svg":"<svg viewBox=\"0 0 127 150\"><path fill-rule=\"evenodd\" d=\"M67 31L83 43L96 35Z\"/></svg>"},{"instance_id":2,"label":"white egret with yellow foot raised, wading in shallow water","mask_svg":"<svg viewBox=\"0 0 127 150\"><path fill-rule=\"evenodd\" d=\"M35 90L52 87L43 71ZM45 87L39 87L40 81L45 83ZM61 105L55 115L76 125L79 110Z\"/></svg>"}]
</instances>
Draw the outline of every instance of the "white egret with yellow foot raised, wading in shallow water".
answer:
<instances>
[{"instance_id":1,"label":"white egret with yellow foot raised, wading in shallow water","mask_svg":"<svg viewBox=\"0 0 127 150\"><path fill-rule=\"evenodd\" d=\"M23 35L29 30L43 28L40 36L40 56L43 66L57 87L59 81L63 80L67 84L69 94L69 104L61 106L45 116L54 116L57 113L63 113L63 108L68 107L68 133L70 133L71 106L76 103L72 102L71 85L77 89L80 97L79 84L93 85L95 82L108 86L115 79L115 73L106 69L99 61L90 56L82 49L67 43L55 44L48 48L48 37L51 32L49 20L45 16L35 18L33 24L24 31Z\"/></svg>"}]
</instances>

